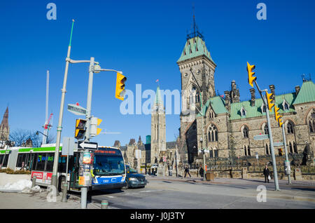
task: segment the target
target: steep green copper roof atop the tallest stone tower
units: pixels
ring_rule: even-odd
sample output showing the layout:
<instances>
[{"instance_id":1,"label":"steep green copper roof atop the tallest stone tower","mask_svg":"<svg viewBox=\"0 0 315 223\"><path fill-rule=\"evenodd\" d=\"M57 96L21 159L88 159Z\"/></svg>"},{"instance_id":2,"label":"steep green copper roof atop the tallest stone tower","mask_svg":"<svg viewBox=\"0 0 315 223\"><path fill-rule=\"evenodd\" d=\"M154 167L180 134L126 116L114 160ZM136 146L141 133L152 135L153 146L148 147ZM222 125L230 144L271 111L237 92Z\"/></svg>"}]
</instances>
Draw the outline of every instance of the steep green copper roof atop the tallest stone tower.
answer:
<instances>
[{"instance_id":1,"label":"steep green copper roof atop the tallest stone tower","mask_svg":"<svg viewBox=\"0 0 315 223\"><path fill-rule=\"evenodd\" d=\"M179 58L177 62L195 58L200 55L205 55L207 58L209 58L209 60L214 62L211 58L209 50L207 50L206 43L204 43L204 41L199 36L196 36L186 41L183 53L181 53L181 58Z\"/></svg>"}]
</instances>

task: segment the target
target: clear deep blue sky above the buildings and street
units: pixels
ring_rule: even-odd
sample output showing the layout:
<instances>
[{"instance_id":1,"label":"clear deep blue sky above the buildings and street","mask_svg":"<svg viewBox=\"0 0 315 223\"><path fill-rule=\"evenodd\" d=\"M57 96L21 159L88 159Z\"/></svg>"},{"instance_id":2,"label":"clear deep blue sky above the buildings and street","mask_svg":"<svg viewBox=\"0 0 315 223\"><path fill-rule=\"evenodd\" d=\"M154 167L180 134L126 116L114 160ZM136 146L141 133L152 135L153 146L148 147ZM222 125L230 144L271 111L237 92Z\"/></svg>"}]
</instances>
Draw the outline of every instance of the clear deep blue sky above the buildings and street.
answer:
<instances>
[{"instance_id":1,"label":"clear deep blue sky above the buildings and street","mask_svg":"<svg viewBox=\"0 0 315 223\"><path fill-rule=\"evenodd\" d=\"M57 6L57 20L47 20L46 5ZM102 68L122 70L126 88L135 92L181 89L176 65L193 23L216 62L216 90L222 95L237 82L241 100L250 97L246 62L256 65L261 88L288 93L302 84L302 74L315 71L315 1L6 1L0 2L0 116L9 107L10 130L43 130L45 79L50 70L50 134L56 135L71 19L75 19L71 58L94 57ZM258 20L256 5L267 6ZM65 104L86 107L87 64L70 65ZM98 135L93 141L112 146L151 135L150 115L120 114L114 97L116 74L94 75L92 114L100 128L120 135ZM143 100L142 102L144 102ZM64 109L63 136L72 136L75 116ZM167 141L178 135L179 115L167 115Z\"/></svg>"}]
</instances>

